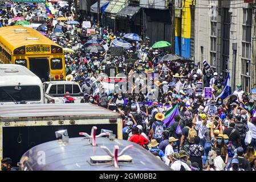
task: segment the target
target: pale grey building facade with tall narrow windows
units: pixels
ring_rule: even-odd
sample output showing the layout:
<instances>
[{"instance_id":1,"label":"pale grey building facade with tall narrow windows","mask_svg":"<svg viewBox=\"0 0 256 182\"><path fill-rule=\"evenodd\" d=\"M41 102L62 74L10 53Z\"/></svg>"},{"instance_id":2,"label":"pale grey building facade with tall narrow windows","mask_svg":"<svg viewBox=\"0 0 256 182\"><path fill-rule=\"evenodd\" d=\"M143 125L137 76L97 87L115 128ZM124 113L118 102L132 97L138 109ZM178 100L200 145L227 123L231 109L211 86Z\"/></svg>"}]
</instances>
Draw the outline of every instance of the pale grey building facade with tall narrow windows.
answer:
<instances>
[{"instance_id":1,"label":"pale grey building facade with tall narrow windows","mask_svg":"<svg viewBox=\"0 0 256 182\"><path fill-rule=\"evenodd\" d=\"M214 71L230 72L232 91L242 84L250 93L256 88L253 3L198 0L194 12L194 49L190 52L195 62L206 59Z\"/></svg>"}]
</instances>

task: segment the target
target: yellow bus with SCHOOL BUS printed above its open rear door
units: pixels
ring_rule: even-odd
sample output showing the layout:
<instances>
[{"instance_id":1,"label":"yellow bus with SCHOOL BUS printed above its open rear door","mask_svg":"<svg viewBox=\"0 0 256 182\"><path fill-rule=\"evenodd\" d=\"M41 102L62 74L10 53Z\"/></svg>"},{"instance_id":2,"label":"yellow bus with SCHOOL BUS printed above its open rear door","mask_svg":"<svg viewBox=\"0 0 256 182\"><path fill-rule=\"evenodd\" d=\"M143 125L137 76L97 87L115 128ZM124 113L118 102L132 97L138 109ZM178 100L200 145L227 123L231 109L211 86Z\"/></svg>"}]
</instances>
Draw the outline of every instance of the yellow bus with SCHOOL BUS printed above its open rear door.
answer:
<instances>
[{"instance_id":1,"label":"yellow bus with SCHOOL BUS printed above its open rear door","mask_svg":"<svg viewBox=\"0 0 256 182\"><path fill-rule=\"evenodd\" d=\"M57 81L66 77L62 47L34 28L0 28L0 60L3 64L27 67L41 80Z\"/></svg>"}]
</instances>

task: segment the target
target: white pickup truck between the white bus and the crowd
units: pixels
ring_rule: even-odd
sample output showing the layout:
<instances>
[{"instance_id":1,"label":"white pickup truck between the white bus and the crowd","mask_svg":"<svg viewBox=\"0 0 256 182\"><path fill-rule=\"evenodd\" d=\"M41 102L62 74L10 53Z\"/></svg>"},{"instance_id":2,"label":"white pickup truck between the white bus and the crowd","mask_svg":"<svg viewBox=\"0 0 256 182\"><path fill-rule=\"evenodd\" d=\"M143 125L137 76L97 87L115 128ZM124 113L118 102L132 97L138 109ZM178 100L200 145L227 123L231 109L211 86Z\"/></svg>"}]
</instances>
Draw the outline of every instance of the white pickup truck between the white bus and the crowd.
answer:
<instances>
[{"instance_id":1,"label":"white pickup truck between the white bus and the crowd","mask_svg":"<svg viewBox=\"0 0 256 182\"><path fill-rule=\"evenodd\" d=\"M75 103L80 103L84 93L80 85L75 81L46 81L43 83L45 103L63 103L66 92L75 98Z\"/></svg>"}]
</instances>

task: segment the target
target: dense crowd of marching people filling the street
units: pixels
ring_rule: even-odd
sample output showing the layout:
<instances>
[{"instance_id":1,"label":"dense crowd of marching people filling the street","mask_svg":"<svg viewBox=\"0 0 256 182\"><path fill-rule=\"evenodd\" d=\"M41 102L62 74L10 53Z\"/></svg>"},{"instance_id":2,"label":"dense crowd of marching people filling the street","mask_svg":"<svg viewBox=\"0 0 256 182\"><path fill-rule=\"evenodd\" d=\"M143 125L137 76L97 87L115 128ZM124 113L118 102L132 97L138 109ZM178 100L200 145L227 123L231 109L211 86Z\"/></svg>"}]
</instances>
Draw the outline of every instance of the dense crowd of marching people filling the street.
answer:
<instances>
[{"instance_id":1,"label":"dense crowd of marching people filling the street","mask_svg":"<svg viewBox=\"0 0 256 182\"><path fill-rule=\"evenodd\" d=\"M47 15L45 7L27 5L21 10L15 10L19 3L2 7L0 27L13 26L15 17L30 22L33 16ZM174 59L167 48L150 45L149 37L142 40L136 34L100 27L91 15L75 17L74 5L71 12L67 3L52 6L55 13L45 18L40 32L66 48L66 80L81 86L81 103L100 105L102 91L107 90L105 107L123 118L123 139L140 144L176 171L256 170L255 101L241 84L230 92L229 73ZM88 35L84 21L90 21L95 32ZM55 31L56 24L62 24L61 32ZM111 55L116 42L123 47L120 56ZM128 62L129 54L136 60ZM106 78L103 73L109 77L111 68L118 73ZM133 81L136 74L139 77ZM113 92L105 86L111 84ZM67 92L63 103L72 102L70 98Z\"/></svg>"}]
</instances>

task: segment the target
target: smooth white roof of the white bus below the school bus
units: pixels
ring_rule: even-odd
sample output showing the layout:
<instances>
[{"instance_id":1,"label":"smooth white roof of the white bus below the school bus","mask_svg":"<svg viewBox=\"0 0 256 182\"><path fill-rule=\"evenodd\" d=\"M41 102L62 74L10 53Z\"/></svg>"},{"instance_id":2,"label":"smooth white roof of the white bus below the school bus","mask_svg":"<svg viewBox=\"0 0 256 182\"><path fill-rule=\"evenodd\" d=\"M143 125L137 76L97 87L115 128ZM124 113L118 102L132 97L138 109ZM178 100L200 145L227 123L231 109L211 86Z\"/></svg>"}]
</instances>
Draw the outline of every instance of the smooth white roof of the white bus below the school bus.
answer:
<instances>
[{"instance_id":1,"label":"smooth white roof of the white bus below the school bus","mask_svg":"<svg viewBox=\"0 0 256 182\"><path fill-rule=\"evenodd\" d=\"M17 86L19 82L21 86L42 84L38 76L18 64L0 64L0 77L1 86Z\"/></svg>"}]
</instances>

